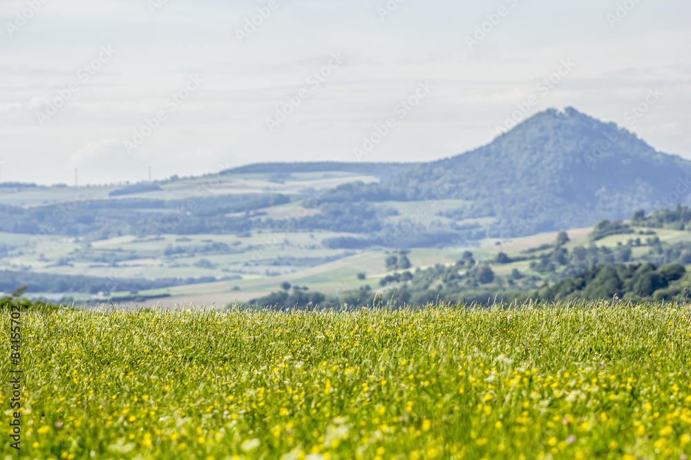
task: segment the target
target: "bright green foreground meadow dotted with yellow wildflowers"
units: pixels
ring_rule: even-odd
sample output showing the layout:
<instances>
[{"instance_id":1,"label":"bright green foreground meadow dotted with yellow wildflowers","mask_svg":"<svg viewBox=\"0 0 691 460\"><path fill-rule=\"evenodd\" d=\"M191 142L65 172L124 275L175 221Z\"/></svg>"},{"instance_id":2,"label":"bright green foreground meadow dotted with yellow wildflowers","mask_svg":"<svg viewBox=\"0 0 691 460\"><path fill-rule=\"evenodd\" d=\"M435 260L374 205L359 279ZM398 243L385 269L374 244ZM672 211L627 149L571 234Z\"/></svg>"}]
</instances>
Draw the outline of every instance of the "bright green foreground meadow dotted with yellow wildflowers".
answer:
<instances>
[{"instance_id":1,"label":"bright green foreground meadow dotted with yellow wildflowers","mask_svg":"<svg viewBox=\"0 0 691 460\"><path fill-rule=\"evenodd\" d=\"M10 448L10 312L0 454ZM26 459L685 459L691 307L21 314ZM8 457L9 458L9 457Z\"/></svg>"}]
</instances>

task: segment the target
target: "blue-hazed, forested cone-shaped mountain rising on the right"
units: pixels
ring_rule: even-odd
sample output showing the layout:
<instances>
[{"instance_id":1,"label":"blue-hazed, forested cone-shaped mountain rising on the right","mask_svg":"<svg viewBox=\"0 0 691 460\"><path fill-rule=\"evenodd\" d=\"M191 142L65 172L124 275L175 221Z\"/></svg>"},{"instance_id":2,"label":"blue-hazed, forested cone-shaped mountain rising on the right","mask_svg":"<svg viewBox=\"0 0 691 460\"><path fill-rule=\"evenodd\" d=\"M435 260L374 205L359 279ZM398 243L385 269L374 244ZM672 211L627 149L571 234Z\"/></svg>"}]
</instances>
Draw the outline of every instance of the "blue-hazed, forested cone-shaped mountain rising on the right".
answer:
<instances>
[{"instance_id":1,"label":"blue-hazed, forested cone-shaped mountain rising on the right","mask_svg":"<svg viewBox=\"0 0 691 460\"><path fill-rule=\"evenodd\" d=\"M535 114L486 146L415 165L359 193L370 201L468 200L444 215L495 217L491 236L520 236L688 203L691 186L683 184L690 174L691 161L569 107ZM338 189L325 199L337 196Z\"/></svg>"}]
</instances>

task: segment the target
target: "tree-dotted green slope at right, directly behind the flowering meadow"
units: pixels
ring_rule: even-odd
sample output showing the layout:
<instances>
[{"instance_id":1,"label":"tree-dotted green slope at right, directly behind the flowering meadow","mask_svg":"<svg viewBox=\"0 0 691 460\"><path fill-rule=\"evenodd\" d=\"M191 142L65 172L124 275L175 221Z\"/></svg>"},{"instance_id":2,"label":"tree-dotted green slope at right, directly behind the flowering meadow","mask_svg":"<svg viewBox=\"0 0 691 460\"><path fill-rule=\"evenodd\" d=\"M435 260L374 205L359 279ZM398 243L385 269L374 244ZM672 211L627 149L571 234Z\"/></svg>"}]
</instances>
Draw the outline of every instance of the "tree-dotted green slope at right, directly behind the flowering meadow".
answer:
<instances>
[{"instance_id":1,"label":"tree-dotted green slope at right, directly behind the flowering meadow","mask_svg":"<svg viewBox=\"0 0 691 460\"><path fill-rule=\"evenodd\" d=\"M331 295L305 286L290 292L290 283L284 283L282 291L249 303L293 308L308 303L373 305L380 297L406 305L615 296L631 301L688 299L689 229L691 209L676 206L647 216L638 211L630 221L603 219L591 228L495 241L481 250L447 249L447 259L434 263L419 263L418 250L389 251L380 262L386 272L360 272L357 279L366 284L348 286L344 280L346 292Z\"/></svg>"}]
</instances>

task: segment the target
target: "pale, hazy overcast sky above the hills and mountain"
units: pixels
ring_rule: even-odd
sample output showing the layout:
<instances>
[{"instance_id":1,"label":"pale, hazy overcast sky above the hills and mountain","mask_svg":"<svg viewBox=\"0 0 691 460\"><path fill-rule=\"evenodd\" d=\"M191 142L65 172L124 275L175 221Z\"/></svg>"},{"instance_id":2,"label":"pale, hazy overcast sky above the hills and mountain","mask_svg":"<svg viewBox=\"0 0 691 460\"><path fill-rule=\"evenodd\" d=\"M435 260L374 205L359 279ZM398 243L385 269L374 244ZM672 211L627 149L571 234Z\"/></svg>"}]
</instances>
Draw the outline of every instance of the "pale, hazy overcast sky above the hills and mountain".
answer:
<instances>
[{"instance_id":1,"label":"pale, hazy overcast sky above the hills and mountain","mask_svg":"<svg viewBox=\"0 0 691 460\"><path fill-rule=\"evenodd\" d=\"M566 106L691 159L690 19L688 0L2 0L0 181L431 161Z\"/></svg>"}]
</instances>

